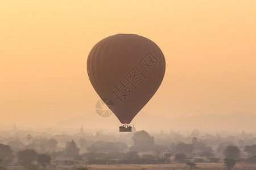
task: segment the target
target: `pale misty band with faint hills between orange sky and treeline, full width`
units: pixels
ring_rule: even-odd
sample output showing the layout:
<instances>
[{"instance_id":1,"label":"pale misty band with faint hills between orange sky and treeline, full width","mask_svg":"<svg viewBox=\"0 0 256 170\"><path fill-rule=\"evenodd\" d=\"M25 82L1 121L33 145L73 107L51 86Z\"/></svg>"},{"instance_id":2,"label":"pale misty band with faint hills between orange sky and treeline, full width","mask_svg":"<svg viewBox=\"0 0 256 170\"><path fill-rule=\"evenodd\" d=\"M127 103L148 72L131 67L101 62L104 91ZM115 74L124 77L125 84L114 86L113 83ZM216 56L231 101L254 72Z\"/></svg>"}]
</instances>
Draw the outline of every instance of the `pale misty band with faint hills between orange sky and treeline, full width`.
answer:
<instances>
[{"instance_id":1,"label":"pale misty band with faint hills between orange sky and treeline, full width","mask_svg":"<svg viewBox=\"0 0 256 170\"><path fill-rule=\"evenodd\" d=\"M241 133L243 130L246 133L256 133L256 114L247 112L234 112L230 114L199 114L195 116L180 116L177 118L167 118L160 115L150 115L142 112L136 116L131 122L131 126L135 126L137 130L146 130L151 133L164 131L183 131L184 133L189 130L197 129L205 133L217 133L226 131L227 133ZM81 126L85 131L103 130L105 133L118 133L120 125L117 117L114 114L110 117L100 117L94 112L89 112L81 116L62 119L52 125L36 124L27 125L19 124L2 124L0 130L11 130L14 125L20 130L32 131L69 131L77 132ZM122 134L122 133L121 133Z\"/></svg>"}]
</instances>

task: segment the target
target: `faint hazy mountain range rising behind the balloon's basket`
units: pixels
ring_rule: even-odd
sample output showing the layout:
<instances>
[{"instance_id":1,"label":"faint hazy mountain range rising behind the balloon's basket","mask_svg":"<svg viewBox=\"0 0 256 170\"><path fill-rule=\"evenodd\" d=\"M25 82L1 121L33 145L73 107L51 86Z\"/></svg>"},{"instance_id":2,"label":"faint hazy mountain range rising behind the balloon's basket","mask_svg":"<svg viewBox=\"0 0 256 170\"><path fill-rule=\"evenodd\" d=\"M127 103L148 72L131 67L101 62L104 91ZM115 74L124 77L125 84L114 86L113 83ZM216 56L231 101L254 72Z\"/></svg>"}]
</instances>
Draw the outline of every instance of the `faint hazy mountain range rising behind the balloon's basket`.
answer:
<instances>
[{"instance_id":1,"label":"faint hazy mountain range rising behind the balloon's basket","mask_svg":"<svg viewBox=\"0 0 256 170\"><path fill-rule=\"evenodd\" d=\"M189 130L200 129L204 131L253 131L256 129L256 115L246 112L236 112L227 115L203 114L199 116L166 118L164 116L150 116L141 112L137 114L131 125L136 125L137 129L148 131L159 130ZM57 122L54 128L77 128L77 125L84 125L86 129L111 129L118 130L120 122L112 114L110 117L102 118L95 112L90 112L85 116L74 117L68 120Z\"/></svg>"}]
</instances>

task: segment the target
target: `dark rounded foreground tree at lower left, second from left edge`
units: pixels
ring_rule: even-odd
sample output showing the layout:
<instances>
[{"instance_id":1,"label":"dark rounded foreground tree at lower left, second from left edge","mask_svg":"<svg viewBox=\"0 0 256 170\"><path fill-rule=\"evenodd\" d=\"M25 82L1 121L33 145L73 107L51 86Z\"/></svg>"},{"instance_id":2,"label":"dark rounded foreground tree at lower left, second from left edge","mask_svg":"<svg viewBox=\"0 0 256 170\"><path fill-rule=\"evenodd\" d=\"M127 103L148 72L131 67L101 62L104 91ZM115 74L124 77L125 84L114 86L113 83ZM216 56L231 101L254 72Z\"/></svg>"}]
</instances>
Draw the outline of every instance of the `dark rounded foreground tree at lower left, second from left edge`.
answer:
<instances>
[{"instance_id":1,"label":"dark rounded foreground tree at lower left, second from left edge","mask_svg":"<svg viewBox=\"0 0 256 170\"><path fill-rule=\"evenodd\" d=\"M36 160L36 151L35 150L21 150L17 154L18 161L21 165L32 164Z\"/></svg>"}]
</instances>

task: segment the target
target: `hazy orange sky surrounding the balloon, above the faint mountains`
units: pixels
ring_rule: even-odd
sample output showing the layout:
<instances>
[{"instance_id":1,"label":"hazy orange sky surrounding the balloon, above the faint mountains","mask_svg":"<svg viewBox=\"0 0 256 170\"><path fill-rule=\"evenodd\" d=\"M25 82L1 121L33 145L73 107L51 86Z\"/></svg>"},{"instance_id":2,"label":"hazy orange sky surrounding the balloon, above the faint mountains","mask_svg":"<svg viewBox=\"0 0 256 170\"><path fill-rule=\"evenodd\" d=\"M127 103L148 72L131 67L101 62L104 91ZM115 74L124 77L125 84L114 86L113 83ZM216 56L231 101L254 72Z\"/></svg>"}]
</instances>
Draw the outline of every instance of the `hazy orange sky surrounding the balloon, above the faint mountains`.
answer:
<instances>
[{"instance_id":1,"label":"hazy orange sky surrounding the balloon, above the faint mountains","mask_svg":"<svg viewBox=\"0 0 256 170\"><path fill-rule=\"evenodd\" d=\"M2 0L0 125L51 126L94 111L86 59L117 33L147 37L166 57L143 112L256 114L255 0Z\"/></svg>"}]
</instances>

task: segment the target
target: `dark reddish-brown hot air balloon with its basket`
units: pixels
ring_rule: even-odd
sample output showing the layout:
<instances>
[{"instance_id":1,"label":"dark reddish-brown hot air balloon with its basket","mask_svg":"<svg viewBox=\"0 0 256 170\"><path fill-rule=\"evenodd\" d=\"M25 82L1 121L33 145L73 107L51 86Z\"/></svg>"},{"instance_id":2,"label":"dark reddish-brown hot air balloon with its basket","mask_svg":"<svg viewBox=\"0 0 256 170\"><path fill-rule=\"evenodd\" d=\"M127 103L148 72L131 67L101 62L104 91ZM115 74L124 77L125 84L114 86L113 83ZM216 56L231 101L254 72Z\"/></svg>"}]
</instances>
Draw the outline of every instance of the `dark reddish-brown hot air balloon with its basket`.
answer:
<instances>
[{"instance_id":1,"label":"dark reddish-brown hot air balloon with its basket","mask_svg":"<svg viewBox=\"0 0 256 170\"><path fill-rule=\"evenodd\" d=\"M106 37L87 59L90 82L121 122L119 131L131 131L130 122L158 90L165 70L158 45L135 34Z\"/></svg>"}]
</instances>

